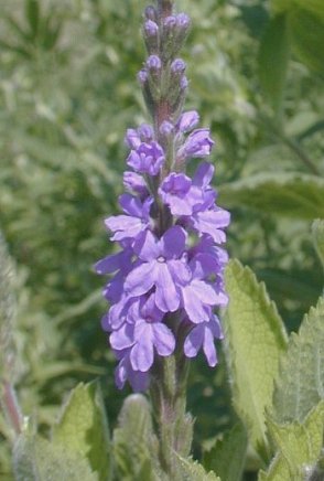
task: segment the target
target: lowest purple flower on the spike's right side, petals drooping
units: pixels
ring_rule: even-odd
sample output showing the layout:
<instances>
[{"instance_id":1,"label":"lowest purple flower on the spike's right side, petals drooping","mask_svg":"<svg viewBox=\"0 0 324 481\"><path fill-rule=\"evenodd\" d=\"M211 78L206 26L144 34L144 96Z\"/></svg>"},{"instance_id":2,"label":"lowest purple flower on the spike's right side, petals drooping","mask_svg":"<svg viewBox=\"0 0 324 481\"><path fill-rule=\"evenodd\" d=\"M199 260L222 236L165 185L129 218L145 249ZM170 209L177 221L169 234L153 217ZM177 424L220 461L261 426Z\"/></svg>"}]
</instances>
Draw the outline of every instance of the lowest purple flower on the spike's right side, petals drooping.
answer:
<instances>
[{"instance_id":1,"label":"lowest purple flower on the spike's right side, petals drooping","mask_svg":"<svg viewBox=\"0 0 324 481\"><path fill-rule=\"evenodd\" d=\"M184 353L187 357L195 357L203 349L210 367L217 364L217 353L214 339L223 339L219 320L212 314L207 322L195 325L184 342Z\"/></svg>"}]
</instances>

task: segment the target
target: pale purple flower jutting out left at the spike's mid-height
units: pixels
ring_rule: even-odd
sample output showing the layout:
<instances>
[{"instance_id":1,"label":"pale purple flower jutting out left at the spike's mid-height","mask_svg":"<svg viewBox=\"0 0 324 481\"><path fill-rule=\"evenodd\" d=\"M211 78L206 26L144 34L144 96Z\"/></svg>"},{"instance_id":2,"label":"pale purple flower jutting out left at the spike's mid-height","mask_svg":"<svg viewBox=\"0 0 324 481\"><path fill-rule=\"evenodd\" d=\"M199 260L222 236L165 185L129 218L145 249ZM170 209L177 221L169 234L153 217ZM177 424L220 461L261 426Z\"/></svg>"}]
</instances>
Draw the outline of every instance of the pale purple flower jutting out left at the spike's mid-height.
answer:
<instances>
[{"instance_id":1,"label":"pale purple flower jutting out left at the spike's mid-height","mask_svg":"<svg viewBox=\"0 0 324 481\"><path fill-rule=\"evenodd\" d=\"M131 194L120 195L119 204L128 215L111 215L105 221L106 226L114 232L111 240L136 239L141 232L149 228L152 202L152 197L142 203Z\"/></svg>"}]
</instances>

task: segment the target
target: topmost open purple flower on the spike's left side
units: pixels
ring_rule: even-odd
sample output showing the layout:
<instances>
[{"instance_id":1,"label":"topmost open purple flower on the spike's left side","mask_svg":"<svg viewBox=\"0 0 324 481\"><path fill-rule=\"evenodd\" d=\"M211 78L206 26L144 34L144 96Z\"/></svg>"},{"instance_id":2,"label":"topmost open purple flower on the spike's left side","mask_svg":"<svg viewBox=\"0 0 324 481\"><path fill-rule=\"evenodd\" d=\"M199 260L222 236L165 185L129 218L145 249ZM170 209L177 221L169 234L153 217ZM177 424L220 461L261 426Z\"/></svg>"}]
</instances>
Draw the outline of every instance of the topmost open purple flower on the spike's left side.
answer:
<instances>
[{"instance_id":1,"label":"topmost open purple flower on the spike's left side","mask_svg":"<svg viewBox=\"0 0 324 481\"><path fill-rule=\"evenodd\" d=\"M127 163L134 171L156 175L164 163L164 152L158 142L141 143L137 150L131 150Z\"/></svg>"}]
</instances>

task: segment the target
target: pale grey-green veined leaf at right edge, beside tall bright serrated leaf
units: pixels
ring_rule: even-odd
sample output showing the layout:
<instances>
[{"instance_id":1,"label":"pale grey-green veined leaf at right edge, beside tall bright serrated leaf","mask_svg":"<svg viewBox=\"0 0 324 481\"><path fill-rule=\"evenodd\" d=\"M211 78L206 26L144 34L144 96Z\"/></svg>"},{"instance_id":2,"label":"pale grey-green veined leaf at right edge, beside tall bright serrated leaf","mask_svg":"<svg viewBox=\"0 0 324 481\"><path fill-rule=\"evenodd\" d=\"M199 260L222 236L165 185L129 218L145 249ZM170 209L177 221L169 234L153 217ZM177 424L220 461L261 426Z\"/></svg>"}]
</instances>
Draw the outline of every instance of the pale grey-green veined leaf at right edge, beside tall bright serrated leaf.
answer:
<instances>
[{"instance_id":1,"label":"pale grey-green veined leaf at right edge, beside tall bright serrated leaf","mask_svg":"<svg viewBox=\"0 0 324 481\"><path fill-rule=\"evenodd\" d=\"M276 383L273 408L280 423L302 421L324 398L324 298L292 333Z\"/></svg>"}]
</instances>

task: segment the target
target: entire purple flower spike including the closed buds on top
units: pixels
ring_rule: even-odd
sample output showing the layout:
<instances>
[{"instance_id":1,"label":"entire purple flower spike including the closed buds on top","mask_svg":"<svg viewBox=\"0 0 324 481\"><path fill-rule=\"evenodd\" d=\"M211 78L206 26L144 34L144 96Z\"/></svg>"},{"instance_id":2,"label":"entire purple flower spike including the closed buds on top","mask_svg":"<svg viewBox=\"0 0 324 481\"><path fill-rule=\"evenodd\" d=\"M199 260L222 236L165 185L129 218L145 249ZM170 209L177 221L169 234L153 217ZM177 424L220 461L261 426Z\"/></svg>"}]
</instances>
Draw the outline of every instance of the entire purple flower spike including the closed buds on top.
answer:
<instances>
[{"instance_id":1,"label":"entire purple flower spike including the closed buds on top","mask_svg":"<svg viewBox=\"0 0 324 481\"><path fill-rule=\"evenodd\" d=\"M139 79L154 128L129 129L123 174L123 214L106 226L117 254L97 263L111 277L105 288L110 309L102 319L119 361L116 383L134 391L148 387L159 356L175 351L194 357L202 350L217 363L215 339L222 339L216 307L226 306L223 272L227 254L224 228L229 213L216 205L210 186L214 167L203 160L193 177L188 161L205 158L214 145L208 129L197 129L196 111L182 111L185 64L174 58L190 19L150 7L143 34L149 58Z\"/></svg>"}]
</instances>

